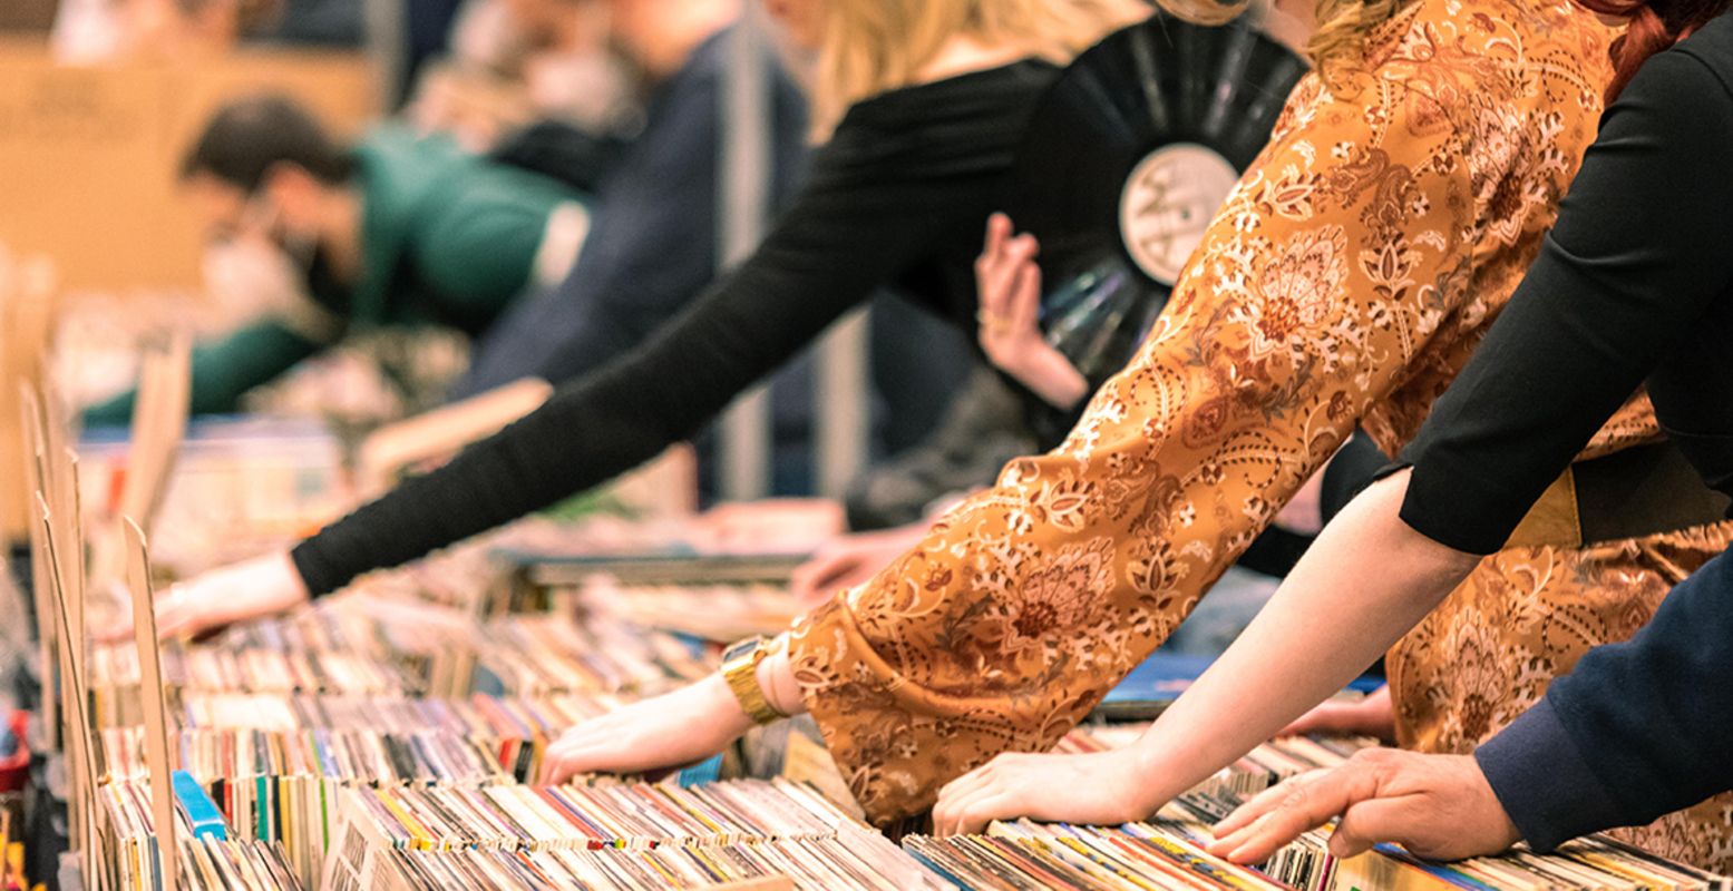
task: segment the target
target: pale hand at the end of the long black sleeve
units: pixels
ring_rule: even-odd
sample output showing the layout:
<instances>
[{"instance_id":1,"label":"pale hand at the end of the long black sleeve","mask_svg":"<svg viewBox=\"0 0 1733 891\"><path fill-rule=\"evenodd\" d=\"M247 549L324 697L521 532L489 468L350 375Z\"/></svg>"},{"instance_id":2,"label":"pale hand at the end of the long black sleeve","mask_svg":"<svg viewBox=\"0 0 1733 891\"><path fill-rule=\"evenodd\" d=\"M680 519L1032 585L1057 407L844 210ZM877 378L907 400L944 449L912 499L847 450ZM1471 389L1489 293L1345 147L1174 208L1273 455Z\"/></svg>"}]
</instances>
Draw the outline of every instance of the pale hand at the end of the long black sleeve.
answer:
<instances>
[{"instance_id":1,"label":"pale hand at the end of the long black sleeve","mask_svg":"<svg viewBox=\"0 0 1733 891\"><path fill-rule=\"evenodd\" d=\"M307 582L288 551L255 556L175 584L158 596L156 634L198 636L227 624L276 615L307 600ZM127 640L132 636L130 619L97 636Z\"/></svg>"}]
</instances>

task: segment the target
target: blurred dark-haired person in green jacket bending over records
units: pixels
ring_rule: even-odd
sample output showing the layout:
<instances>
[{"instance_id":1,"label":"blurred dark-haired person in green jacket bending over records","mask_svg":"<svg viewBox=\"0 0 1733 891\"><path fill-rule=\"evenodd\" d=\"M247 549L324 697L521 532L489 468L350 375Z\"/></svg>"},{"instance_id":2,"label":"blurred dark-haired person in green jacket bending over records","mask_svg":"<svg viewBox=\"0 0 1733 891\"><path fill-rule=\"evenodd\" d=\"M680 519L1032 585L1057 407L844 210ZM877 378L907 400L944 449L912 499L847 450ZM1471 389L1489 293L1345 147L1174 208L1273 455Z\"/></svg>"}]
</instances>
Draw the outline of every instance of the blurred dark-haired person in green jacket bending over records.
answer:
<instances>
[{"instance_id":1,"label":"blurred dark-haired person in green jacket bending over records","mask_svg":"<svg viewBox=\"0 0 1733 891\"><path fill-rule=\"evenodd\" d=\"M587 229L582 196L555 179L397 125L345 147L281 95L224 106L180 179L213 243L269 239L310 296L194 350L194 414L234 411L350 331L442 324L477 336L532 286L560 281ZM127 423L132 404L123 393L85 423Z\"/></svg>"}]
</instances>

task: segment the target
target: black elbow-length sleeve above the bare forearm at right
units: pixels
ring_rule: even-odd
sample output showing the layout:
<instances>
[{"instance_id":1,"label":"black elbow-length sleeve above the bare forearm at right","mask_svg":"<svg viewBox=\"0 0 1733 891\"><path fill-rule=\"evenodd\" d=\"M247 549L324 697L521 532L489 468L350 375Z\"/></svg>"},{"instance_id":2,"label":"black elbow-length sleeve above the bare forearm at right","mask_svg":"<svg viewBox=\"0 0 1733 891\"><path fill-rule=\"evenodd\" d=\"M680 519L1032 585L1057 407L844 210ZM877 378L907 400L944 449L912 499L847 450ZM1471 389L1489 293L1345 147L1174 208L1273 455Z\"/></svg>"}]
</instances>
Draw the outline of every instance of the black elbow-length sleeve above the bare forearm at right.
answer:
<instances>
[{"instance_id":1,"label":"black elbow-length sleeve above the bare forearm at right","mask_svg":"<svg viewBox=\"0 0 1733 891\"><path fill-rule=\"evenodd\" d=\"M1402 452L1402 518L1492 553L1733 279L1733 97L1664 52L1608 109L1473 361Z\"/></svg>"}]
</instances>

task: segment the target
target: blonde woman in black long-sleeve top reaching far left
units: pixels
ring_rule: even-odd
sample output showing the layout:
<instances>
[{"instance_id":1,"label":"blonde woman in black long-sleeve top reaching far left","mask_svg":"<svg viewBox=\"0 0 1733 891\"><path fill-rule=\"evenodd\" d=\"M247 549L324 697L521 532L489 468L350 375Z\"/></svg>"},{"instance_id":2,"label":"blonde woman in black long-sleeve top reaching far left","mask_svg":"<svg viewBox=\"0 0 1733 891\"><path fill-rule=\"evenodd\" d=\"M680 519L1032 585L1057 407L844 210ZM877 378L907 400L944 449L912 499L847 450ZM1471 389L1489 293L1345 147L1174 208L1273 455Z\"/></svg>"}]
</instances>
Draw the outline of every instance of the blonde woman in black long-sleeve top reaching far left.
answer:
<instances>
[{"instance_id":1,"label":"blonde woman in black long-sleeve top reaching far left","mask_svg":"<svg viewBox=\"0 0 1733 891\"><path fill-rule=\"evenodd\" d=\"M813 114L825 144L759 250L636 350L293 558L269 555L175 588L159 603L165 634L293 607L631 470L882 286L972 331L981 231L1003 203L1035 104L1059 64L1149 14L1133 0L775 0L769 10L816 54ZM620 288L608 298L629 303L636 283Z\"/></svg>"}]
</instances>

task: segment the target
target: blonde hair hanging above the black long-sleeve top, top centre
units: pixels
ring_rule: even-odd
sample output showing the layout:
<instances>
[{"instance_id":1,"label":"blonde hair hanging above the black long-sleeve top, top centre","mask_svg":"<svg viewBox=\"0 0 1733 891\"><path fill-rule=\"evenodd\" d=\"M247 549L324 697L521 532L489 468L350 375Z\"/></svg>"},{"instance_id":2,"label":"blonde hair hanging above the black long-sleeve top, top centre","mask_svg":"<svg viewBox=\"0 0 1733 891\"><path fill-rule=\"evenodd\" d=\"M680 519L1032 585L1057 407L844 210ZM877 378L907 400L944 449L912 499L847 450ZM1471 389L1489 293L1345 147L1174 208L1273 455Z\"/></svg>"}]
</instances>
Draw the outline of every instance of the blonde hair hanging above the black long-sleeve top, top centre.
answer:
<instances>
[{"instance_id":1,"label":"blonde hair hanging above the black long-sleeve top, top centre","mask_svg":"<svg viewBox=\"0 0 1733 891\"><path fill-rule=\"evenodd\" d=\"M955 36L1068 64L1149 12L1142 0L823 0L813 130L823 139L851 104L915 83Z\"/></svg>"}]
</instances>

